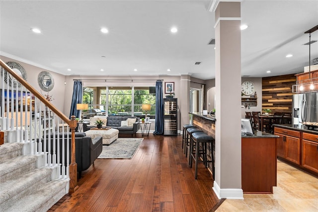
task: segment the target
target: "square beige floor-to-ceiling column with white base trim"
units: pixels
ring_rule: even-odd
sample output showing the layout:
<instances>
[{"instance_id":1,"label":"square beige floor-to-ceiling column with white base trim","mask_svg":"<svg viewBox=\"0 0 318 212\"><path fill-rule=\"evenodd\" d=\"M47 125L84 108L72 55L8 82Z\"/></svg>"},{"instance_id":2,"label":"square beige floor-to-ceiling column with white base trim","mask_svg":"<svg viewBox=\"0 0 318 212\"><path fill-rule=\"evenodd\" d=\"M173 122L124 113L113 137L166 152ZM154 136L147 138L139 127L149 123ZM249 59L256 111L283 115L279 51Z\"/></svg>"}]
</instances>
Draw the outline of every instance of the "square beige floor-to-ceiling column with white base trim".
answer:
<instances>
[{"instance_id":1,"label":"square beige floor-to-ceiling column with white base trim","mask_svg":"<svg viewBox=\"0 0 318 212\"><path fill-rule=\"evenodd\" d=\"M240 2L215 7L216 132L215 181L219 198L242 199Z\"/></svg>"}]
</instances>

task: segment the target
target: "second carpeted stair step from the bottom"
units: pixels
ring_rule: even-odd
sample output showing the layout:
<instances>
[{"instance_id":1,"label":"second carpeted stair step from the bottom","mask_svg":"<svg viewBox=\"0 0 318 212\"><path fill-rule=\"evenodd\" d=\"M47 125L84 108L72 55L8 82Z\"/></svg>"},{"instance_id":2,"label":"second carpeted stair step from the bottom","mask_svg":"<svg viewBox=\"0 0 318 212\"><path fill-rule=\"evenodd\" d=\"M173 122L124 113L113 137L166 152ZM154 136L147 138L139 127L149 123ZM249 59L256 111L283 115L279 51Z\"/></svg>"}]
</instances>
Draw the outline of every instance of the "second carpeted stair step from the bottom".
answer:
<instances>
[{"instance_id":1,"label":"second carpeted stair step from the bottom","mask_svg":"<svg viewBox=\"0 0 318 212\"><path fill-rule=\"evenodd\" d=\"M16 179L0 183L0 204L12 197L21 196L21 193L31 194L35 188L42 187L51 180L51 173L50 168L34 169Z\"/></svg>"}]
</instances>

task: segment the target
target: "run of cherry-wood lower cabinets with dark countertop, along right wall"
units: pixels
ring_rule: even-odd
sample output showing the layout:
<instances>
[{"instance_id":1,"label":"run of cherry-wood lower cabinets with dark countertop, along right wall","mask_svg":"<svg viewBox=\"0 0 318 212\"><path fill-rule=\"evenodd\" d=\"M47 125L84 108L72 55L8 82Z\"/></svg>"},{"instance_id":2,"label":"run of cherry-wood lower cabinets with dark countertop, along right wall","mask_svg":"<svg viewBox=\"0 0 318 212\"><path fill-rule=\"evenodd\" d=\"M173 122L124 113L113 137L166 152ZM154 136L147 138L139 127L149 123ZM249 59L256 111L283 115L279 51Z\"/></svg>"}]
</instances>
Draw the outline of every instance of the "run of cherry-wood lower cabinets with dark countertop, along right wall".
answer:
<instances>
[{"instance_id":1,"label":"run of cherry-wood lower cabinets with dark countertop, along right wall","mask_svg":"<svg viewBox=\"0 0 318 212\"><path fill-rule=\"evenodd\" d=\"M318 131L304 124L274 124L277 158L318 177Z\"/></svg>"}]
</instances>

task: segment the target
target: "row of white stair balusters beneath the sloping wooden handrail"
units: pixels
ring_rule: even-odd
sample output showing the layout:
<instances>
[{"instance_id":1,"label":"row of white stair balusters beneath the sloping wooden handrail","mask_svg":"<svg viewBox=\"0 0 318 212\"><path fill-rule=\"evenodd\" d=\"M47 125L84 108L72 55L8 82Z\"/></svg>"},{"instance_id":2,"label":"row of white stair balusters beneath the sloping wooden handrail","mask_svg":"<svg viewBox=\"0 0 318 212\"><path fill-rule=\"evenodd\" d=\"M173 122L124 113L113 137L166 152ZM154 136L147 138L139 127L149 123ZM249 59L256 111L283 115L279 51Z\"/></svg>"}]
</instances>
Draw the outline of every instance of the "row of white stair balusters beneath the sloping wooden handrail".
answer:
<instances>
[{"instance_id":1,"label":"row of white stair balusters beneath the sloping wooden handrail","mask_svg":"<svg viewBox=\"0 0 318 212\"><path fill-rule=\"evenodd\" d=\"M4 131L4 141L25 143L23 154L42 156L38 157L38 167L55 168L54 179L70 179L69 125L65 131L64 120L3 68L0 89L0 130Z\"/></svg>"}]
</instances>

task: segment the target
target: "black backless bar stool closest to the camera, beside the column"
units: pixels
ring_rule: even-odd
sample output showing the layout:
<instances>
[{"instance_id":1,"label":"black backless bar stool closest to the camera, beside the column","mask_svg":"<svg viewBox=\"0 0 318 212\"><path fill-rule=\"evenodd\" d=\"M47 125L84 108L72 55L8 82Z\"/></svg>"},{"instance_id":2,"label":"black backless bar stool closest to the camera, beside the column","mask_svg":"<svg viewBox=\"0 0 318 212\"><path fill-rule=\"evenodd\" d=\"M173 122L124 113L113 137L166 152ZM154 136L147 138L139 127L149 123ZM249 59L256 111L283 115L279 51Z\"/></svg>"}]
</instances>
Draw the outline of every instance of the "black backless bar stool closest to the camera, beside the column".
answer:
<instances>
[{"instance_id":1,"label":"black backless bar stool closest to the camera, beside the column","mask_svg":"<svg viewBox=\"0 0 318 212\"><path fill-rule=\"evenodd\" d=\"M207 163L212 163L212 174L213 179L215 176L215 167L214 167L214 156L213 156L213 141L214 138L210 135L207 135L204 132L194 132L192 133L192 141L190 146L190 168L192 168L192 159L195 160L195 179L197 179L198 176L198 163L203 162L205 163L205 167L207 168ZM201 143L201 150L200 150L200 144ZM210 157L211 160L207 159L207 143L210 144ZM194 152L194 144L195 144L195 152ZM194 155L195 154L195 155ZM203 160L199 161L199 155L202 155Z\"/></svg>"}]
</instances>

